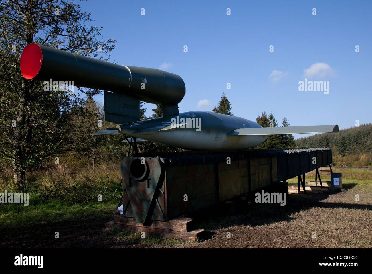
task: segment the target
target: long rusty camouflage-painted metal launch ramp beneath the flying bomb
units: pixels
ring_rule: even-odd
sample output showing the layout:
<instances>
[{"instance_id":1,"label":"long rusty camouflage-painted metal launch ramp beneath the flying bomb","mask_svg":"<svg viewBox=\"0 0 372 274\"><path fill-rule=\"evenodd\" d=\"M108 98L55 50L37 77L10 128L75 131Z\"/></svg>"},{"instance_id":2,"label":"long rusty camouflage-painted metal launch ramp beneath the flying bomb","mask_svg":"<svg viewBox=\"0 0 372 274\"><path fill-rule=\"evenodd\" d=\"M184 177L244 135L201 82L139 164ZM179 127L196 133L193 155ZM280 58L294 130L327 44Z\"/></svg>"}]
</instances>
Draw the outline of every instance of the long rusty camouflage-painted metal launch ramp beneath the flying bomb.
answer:
<instances>
[{"instance_id":1,"label":"long rusty camouflage-painted metal launch ramp beneath the flying bomb","mask_svg":"<svg viewBox=\"0 0 372 274\"><path fill-rule=\"evenodd\" d=\"M169 221L329 164L330 148L137 153L121 161L123 216Z\"/></svg>"}]
</instances>

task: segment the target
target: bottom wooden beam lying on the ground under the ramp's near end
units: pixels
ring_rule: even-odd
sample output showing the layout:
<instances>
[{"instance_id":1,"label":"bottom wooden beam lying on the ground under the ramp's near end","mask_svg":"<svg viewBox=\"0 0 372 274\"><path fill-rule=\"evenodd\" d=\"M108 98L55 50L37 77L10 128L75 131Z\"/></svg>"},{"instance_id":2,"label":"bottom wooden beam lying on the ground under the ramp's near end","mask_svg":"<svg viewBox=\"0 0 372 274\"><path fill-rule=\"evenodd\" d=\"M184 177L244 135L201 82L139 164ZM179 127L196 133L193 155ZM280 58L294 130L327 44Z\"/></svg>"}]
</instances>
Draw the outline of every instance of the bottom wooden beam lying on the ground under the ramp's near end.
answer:
<instances>
[{"instance_id":1,"label":"bottom wooden beam lying on the ground under the ramp's near end","mask_svg":"<svg viewBox=\"0 0 372 274\"><path fill-rule=\"evenodd\" d=\"M164 222L167 223L167 222ZM161 236L164 238L176 238L182 240L192 240L196 241L198 237L205 231L204 229L197 229L190 232L180 232L180 231L173 231L173 230L166 230L166 229L157 229L153 227L146 227L146 226L128 226L125 224L116 224L114 221L109 221L106 223L107 229L125 229L125 230L132 230L134 232L144 232L145 235L151 236Z\"/></svg>"}]
</instances>

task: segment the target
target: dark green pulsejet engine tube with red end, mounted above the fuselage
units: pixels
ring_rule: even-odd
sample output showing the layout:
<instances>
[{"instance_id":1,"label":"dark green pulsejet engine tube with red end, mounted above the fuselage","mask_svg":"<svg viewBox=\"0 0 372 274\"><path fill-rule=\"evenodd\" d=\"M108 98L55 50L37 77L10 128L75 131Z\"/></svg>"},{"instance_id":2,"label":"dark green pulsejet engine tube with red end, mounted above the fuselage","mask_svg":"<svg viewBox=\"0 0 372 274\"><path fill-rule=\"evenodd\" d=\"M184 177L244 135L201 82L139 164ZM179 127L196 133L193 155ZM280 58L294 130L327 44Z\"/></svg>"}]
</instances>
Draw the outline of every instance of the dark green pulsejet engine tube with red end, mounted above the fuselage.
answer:
<instances>
[{"instance_id":1,"label":"dark green pulsejet engine tube with red end, mounted above the fuselage","mask_svg":"<svg viewBox=\"0 0 372 274\"><path fill-rule=\"evenodd\" d=\"M176 74L121 66L35 43L23 49L20 69L27 79L74 81L75 86L122 93L152 104L177 105L185 96L185 82Z\"/></svg>"}]
</instances>

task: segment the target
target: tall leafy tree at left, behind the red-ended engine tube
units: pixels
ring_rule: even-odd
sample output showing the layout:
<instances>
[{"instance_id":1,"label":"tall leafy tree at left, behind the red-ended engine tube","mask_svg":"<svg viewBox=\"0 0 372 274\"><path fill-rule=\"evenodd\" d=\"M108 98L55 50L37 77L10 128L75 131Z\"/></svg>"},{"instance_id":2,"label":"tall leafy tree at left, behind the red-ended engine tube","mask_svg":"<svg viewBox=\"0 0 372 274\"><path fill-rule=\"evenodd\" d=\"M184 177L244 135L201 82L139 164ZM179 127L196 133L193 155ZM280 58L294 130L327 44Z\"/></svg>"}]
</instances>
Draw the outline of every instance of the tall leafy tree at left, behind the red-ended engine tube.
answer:
<instances>
[{"instance_id":1,"label":"tall leafy tree at left, behind the red-ended engine tube","mask_svg":"<svg viewBox=\"0 0 372 274\"><path fill-rule=\"evenodd\" d=\"M115 40L103 40L102 27L85 25L91 21L72 0L1 0L0 163L13 169L21 191L27 170L67 146L70 107L81 98L58 88L45 91L41 81L23 78L20 54L33 42L96 58L109 53Z\"/></svg>"}]
</instances>

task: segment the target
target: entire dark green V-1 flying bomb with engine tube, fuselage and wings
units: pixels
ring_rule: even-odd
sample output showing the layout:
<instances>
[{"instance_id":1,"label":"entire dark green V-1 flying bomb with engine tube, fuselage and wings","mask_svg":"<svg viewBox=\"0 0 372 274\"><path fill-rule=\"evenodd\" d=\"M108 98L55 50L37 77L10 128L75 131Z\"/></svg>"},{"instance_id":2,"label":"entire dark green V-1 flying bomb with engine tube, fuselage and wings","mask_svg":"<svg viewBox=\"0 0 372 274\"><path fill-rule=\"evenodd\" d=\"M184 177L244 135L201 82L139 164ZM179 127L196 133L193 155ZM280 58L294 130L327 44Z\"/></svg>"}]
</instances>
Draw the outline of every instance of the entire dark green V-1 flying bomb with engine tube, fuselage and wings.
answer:
<instances>
[{"instance_id":1,"label":"entire dark green V-1 flying bomb with engine tube, fuselage and wings","mask_svg":"<svg viewBox=\"0 0 372 274\"><path fill-rule=\"evenodd\" d=\"M20 69L27 79L74 81L75 86L105 90L105 121L120 125L92 135L125 134L137 141L189 150L228 150L257 147L268 135L339 130L338 125L261 127L251 120L209 111L179 113L177 104L185 96L185 83L176 74L121 66L35 43L23 49ZM161 104L163 117L140 120L140 100Z\"/></svg>"}]
</instances>

